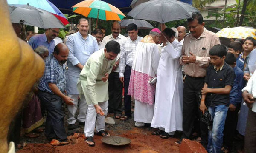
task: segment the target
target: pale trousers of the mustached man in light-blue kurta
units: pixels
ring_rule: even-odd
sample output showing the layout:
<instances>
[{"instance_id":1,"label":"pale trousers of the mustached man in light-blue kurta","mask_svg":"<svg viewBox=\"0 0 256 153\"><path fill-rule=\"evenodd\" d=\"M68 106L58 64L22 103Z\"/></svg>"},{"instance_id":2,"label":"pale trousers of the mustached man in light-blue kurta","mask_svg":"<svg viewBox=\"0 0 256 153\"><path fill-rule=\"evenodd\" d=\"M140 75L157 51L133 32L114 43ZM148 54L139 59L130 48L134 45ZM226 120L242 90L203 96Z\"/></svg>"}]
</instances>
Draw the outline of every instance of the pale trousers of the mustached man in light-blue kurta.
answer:
<instances>
[{"instance_id":1,"label":"pale trousers of the mustached man in light-blue kurta","mask_svg":"<svg viewBox=\"0 0 256 153\"><path fill-rule=\"evenodd\" d=\"M68 109L68 124L75 124L76 123L76 110L77 110L77 103L78 103L78 96L79 94L67 94L70 98L74 99L74 105L67 105ZM79 115L77 116L78 122L85 122L86 119L86 111L88 105L86 103L85 97L83 94L80 95L80 102L79 102Z\"/></svg>"}]
</instances>

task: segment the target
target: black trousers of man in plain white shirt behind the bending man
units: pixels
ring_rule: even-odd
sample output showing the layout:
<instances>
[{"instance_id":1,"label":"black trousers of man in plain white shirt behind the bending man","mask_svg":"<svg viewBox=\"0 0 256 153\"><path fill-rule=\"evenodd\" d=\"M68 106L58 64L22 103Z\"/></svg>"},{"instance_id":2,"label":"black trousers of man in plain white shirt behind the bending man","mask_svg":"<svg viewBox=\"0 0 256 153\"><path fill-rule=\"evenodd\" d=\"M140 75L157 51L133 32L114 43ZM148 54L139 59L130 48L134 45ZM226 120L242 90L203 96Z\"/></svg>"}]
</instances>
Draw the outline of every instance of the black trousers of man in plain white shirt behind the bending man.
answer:
<instances>
[{"instance_id":1,"label":"black trousers of man in plain white shirt behind the bending man","mask_svg":"<svg viewBox=\"0 0 256 153\"><path fill-rule=\"evenodd\" d=\"M122 115L122 87L118 72L108 77L108 112Z\"/></svg>"}]
</instances>

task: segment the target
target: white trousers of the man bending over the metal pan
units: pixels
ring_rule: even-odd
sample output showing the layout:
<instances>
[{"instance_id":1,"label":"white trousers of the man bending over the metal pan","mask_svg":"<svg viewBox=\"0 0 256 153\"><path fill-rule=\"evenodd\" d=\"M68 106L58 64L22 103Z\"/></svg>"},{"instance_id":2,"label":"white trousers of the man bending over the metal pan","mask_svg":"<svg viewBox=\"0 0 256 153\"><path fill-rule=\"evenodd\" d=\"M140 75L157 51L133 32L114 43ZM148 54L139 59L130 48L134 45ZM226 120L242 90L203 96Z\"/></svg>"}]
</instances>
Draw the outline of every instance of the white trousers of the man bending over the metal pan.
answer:
<instances>
[{"instance_id":1,"label":"white trousers of the man bending over the metal pan","mask_svg":"<svg viewBox=\"0 0 256 153\"><path fill-rule=\"evenodd\" d=\"M108 100L105 102L98 102L105 115L108 114ZM94 105L88 105L87 116L84 126L84 134L86 137L94 136L94 129L96 125L96 133L105 129L105 116L96 113Z\"/></svg>"}]
</instances>

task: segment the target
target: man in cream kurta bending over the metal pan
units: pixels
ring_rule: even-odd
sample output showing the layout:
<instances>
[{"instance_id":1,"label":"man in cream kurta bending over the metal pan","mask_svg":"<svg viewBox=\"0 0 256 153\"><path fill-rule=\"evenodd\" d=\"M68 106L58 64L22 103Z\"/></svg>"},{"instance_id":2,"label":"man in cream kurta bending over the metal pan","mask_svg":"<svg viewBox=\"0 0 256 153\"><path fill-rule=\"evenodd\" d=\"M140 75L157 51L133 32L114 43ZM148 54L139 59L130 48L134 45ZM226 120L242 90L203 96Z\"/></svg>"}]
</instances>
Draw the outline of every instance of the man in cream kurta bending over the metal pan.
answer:
<instances>
[{"instance_id":1,"label":"man in cream kurta bending over the metal pan","mask_svg":"<svg viewBox=\"0 0 256 153\"><path fill-rule=\"evenodd\" d=\"M108 113L108 76L119 52L119 43L109 41L105 48L96 51L89 57L79 75L77 89L80 99L86 99L88 104L84 134L87 137L86 142L91 146L94 146L95 124L97 134L109 136L104 130L104 115Z\"/></svg>"}]
</instances>

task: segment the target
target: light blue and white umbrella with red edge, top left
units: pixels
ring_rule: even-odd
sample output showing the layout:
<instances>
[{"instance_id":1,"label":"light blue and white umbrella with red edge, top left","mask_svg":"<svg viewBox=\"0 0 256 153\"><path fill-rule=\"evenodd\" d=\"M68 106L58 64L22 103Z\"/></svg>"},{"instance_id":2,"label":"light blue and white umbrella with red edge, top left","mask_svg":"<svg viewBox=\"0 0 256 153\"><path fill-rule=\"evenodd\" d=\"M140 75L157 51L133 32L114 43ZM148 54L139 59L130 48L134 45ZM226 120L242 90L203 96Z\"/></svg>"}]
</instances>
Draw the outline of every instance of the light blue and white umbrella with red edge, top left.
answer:
<instances>
[{"instance_id":1,"label":"light blue and white umbrella with red edge, top left","mask_svg":"<svg viewBox=\"0 0 256 153\"><path fill-rule=\"evenodd\" d=\"M34 6L36 8L40 8L42 10L52 13L64 25L67 25L69 23L67 18L64 16L64 14L62 14L61 11L49 0L7 0L7 3L14 4L14 5L29 4L30 6Z\"/></svg>"}]
</instances>

